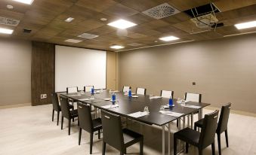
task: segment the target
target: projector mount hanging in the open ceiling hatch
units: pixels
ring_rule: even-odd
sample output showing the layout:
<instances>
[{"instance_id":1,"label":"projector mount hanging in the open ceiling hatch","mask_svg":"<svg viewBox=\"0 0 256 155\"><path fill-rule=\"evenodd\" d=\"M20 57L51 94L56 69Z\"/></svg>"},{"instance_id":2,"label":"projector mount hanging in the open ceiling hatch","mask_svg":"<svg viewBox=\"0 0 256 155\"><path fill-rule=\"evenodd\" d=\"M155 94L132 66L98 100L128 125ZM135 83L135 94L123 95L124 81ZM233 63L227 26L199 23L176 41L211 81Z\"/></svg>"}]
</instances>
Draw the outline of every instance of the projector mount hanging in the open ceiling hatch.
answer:
<instances>
[{"instance_id":1,"label":"projector mount hanging in the open ceiling hatch","mask_svg":"<svg viewBox=\"0 0 256 155\"><path fill-rule=\"evenodd\" d=\"M215 14L218 12L220 10L213 3L185 11L185 13L192 17L190 20L200 29L216 29L219 26L219 21Z\"/></svg>"}]
</instances>

